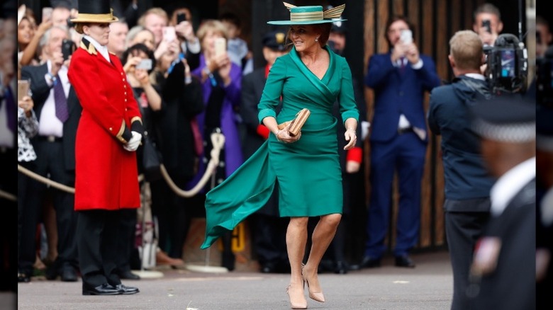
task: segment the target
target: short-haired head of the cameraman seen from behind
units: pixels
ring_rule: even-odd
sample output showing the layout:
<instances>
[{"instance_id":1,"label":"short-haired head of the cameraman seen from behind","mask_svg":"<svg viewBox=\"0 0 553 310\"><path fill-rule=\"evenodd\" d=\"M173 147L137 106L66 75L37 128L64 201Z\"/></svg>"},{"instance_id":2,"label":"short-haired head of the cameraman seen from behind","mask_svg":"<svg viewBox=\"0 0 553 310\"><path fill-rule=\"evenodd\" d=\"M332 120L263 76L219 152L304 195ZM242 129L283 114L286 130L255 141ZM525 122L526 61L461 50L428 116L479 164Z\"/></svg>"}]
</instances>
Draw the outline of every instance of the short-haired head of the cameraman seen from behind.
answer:
<instances>
[{"instance_id":1,"label":"short-haired head of the cameraman seen from behind","mask_svg":"<svg viewBox=\"0 0 553 310\"><path fill-rule=\"evenodd\" d=\"M460 30L449 40L449 54L459 69L480 69L484 50L482 40L472 30Z\"/></svg>"}]
</instances>

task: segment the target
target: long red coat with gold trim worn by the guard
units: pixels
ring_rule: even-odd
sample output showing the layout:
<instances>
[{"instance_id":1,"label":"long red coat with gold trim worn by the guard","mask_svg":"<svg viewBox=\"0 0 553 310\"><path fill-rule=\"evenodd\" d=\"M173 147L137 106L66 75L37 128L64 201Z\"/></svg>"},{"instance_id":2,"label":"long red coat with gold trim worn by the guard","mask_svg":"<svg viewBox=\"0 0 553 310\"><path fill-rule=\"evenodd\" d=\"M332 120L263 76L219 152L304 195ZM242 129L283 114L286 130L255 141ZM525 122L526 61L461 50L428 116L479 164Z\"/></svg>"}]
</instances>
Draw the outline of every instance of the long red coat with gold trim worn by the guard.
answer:
<instances>
[{"instance_id":1,"label":"long red coat with gold trim worn by the guard","mask_svg":"<svg viewBox=\"0 0 553 310\"><path fill-rule=\"evenodd\" d=\"M67 76L82 115L75 142L75 207L116 210L140 207L136 153L126 151L123 132L140 119L119 59L111 63L83 40L72 55Z\"/></svg>"}]
</instances>

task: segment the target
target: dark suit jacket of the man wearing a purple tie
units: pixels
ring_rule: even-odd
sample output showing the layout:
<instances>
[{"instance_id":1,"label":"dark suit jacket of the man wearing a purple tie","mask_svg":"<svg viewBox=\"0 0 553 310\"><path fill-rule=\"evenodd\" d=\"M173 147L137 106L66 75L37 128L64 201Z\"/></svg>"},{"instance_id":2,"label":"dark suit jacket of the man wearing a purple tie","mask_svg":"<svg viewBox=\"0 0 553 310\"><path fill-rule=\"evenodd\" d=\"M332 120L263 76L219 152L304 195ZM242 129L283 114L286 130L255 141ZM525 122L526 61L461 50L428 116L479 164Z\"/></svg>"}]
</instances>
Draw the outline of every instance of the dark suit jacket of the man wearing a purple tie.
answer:
<instances>
[{"instance_id":1,"label":"dark suit jacket of the man wearing a purple tie","mask_svg":"<svg viewBox=\"0 0 553 310\"><path fill-rule=\"evenodd\" d=\"M42 112L44 103L50 95L50 86L46 83L45 75L48 73L47 64L40 66L27 66L21 68L21 79L30 79L30 91L33 93L34 110L40 123L40 112ZM67 96L67 105L69 108L69 118L63 124L63 159L65 169L75 169L75 137L77 136L77 126L82 113L82 107L77 98L73 86L69 88ZM34 144L37 137L31 139Z\"/></svg>"}]
</instances>

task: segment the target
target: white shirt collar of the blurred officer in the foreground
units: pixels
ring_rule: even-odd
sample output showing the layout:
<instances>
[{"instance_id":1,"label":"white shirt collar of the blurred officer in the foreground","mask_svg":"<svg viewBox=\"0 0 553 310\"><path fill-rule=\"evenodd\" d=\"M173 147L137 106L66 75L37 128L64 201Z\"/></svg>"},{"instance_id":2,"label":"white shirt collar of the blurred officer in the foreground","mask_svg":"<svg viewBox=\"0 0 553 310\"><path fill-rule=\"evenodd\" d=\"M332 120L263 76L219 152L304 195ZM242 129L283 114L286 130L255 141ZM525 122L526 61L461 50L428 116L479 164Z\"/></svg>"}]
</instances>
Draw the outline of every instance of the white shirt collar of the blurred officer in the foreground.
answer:
<instances>
[{"instance_id":1,"label":"white shirt collar of the blurred officer in the foreground","mask_svg":"<svg viewBox=\"0 0 553 310\"><path fill-rule=\"evenodd\" d=\"M536 158L527 159L507 171L490 192L491 214L498 217L513 197L523 189L530 180L536 177Z\"/></svg>"}]
</instances>

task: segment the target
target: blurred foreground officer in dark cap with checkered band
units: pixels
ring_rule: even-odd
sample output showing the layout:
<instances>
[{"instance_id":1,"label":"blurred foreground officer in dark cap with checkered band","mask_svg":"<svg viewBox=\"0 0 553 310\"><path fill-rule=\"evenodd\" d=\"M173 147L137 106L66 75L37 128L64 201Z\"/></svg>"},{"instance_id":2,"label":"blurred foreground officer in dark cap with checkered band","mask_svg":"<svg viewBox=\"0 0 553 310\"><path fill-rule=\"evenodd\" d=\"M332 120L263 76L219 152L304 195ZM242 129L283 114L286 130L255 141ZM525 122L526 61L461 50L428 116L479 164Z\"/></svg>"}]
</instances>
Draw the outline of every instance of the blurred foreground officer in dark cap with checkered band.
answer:
<instances>
[{"instance_id":1,"label":"blurred foreground officer in dark cap with checkered band","mask_svg":"<svg viewBox=\"0 0 553 310\"><path fill-rule=\"evenodd\" d=\"M471 265L470 309L536 309L536 107L505 95L473 110L486 167L498 180Z\"/></svg>"}]
</instances>

